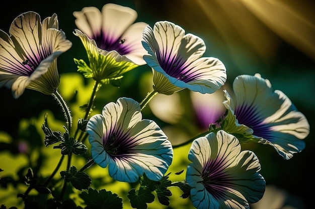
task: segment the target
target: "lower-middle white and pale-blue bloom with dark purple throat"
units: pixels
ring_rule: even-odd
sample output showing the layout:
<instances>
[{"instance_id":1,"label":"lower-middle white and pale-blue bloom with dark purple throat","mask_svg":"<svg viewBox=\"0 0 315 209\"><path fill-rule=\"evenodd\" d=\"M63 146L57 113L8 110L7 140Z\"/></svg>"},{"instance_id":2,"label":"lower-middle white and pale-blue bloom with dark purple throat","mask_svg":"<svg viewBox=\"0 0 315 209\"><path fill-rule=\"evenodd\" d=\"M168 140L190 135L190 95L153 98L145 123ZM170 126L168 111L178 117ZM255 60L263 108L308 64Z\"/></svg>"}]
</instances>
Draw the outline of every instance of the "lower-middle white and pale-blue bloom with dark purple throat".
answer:
<instances>
[{"instance_id":1,"label":"lower-middle white and pale-blue bloom with dark purple throat","mask_svg":"<svg viewBox=\"0 0 315 209\"><path fill-rule=\"evenodd\" d=\"M173 148L161 128L142 120L140 105L119 98L91 117L87 124L92 157L101 167L109 166L116 180L135 182L143 173L158 181L173 159Z\"/></svg>"}]
</instances>

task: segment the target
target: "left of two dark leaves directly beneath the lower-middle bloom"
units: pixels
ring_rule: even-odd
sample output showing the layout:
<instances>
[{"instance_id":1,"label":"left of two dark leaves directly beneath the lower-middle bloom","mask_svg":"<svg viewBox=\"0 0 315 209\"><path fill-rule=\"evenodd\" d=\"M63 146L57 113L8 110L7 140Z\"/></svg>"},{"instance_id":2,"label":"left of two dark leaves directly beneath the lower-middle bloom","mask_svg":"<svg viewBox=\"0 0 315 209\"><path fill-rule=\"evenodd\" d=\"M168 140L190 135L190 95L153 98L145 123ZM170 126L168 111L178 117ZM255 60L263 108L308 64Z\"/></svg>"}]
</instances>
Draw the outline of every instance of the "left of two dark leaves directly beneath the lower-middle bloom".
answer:
<instances>
[{"instance_id":1,"label":"left of two dark leaves directly beneath the lower-middle bloom","mask_svg":"<svg viewBox=\"0 0 315 209\"><path fill-rule=\"evenodd\" d=\"M128 198L130 199L130 204L133 208L146 209L146 203L154 201L154 195L150 190L141 187L136 189L130 189L128 192Z\"/></svg>"}]
</instances>

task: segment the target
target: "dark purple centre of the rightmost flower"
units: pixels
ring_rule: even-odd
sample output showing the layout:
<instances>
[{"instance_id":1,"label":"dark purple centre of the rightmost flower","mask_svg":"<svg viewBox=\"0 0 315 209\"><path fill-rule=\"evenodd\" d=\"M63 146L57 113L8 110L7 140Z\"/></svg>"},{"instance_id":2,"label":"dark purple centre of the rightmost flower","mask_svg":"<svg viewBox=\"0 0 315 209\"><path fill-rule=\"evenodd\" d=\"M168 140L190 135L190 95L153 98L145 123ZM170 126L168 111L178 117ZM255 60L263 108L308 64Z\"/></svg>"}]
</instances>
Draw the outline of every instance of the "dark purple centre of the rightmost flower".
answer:
<instances>
[{"instance_id":1,"label":"dark purple centre of the rightmost flower","mask_svg":"<svg viewBox=\"0 0 315 209\"><path fill-rule=\"evenodd\" d=\"M253 129L255 136L265 139L272 138L270 125L263 123L264 118L256 108L242 104L235 108L235 115L240 124Z\"/></svg>"}]
</instances>

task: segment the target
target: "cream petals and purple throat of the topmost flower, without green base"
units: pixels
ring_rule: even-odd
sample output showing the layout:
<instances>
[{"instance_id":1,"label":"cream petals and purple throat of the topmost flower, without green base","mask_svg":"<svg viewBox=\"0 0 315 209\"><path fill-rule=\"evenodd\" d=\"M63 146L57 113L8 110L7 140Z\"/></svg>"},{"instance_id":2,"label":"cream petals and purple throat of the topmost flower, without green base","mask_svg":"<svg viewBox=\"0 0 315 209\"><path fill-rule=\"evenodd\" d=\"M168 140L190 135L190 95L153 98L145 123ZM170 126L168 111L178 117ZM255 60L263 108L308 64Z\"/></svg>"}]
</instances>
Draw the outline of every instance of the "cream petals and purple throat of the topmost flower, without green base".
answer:
<instances>
[{"instance_id":1,"label":"cream petals and purple throat of the topmost flower, without green base","mask_svg":"<svg viewBox=\"0 0 315 209\"><path fill-rule=\"evenodd\" d=\"M142 30L146 23L133 22L137 13L131 8L106 4L102 12L95 7L83 8L74 12L75 24L95 45L104 51L116 51L137 65L145 64L142 56L145 50L141 45ZM91 67L91 69L93 69Z\"/></svg>"}]
</instances>

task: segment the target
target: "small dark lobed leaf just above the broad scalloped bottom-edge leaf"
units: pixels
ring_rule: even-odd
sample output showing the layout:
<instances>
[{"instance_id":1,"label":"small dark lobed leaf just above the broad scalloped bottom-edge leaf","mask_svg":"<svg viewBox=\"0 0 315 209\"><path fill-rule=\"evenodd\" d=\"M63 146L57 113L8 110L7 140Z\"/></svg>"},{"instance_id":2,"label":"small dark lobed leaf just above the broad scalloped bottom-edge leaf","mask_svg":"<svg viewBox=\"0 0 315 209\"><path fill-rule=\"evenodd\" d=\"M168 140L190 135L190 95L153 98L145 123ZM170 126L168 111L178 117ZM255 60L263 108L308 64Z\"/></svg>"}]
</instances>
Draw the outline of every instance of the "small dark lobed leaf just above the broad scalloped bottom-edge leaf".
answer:
<instances>
[{"instance_id":1,"label":"small dark lobed leaf just above the broad scalloped bottom-edge leaf","mask_svg":"<svg viewBox=\"0 0 315 209\"><path fill-rule=\"evenodd\" d=\"M74 166L70 167L69 173L66 171L61 171L60 175L64 176L67 182L71 182L73 187L80 191L82 189L88 189L92 183L92 180L87 173L81 171L77 172L76 167Z\"/></svg>"}]
</instances>

